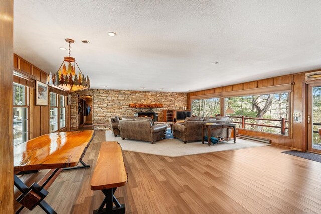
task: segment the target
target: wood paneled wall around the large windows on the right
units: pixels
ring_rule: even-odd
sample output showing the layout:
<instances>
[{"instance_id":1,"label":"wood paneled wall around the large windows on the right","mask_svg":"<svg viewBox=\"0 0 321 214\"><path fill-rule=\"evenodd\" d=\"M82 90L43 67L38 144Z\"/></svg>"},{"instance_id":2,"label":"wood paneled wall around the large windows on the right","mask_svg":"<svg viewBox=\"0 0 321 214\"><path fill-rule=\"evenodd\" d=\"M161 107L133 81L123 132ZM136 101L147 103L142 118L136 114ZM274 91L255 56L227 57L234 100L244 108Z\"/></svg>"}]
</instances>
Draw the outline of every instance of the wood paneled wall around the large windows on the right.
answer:
<instances>
[{"instance_id":1,"label":"wood paneled wall around the large windows on the right","mask_svg":"<svg viewBox=\"0 0 321 214\"><path fill-rule=\"evenodd\" d=\"M316 71L316 70L314 70ZM265 139L270 139L272 144L282 145L286 147L296 148L302 151L307 149L307 121L306 121L306 109L307 109L307 96L306 96L306 85L305 85L305 73L313 72L306 71L297 74L290 74L278 77L267 78L263 80L251 81L246 83L240 83L235 85L223 86L213 89L207 89L202 91L191 92L188 94L188 108L191 108L191 98L193 96L200 96L206 94L214 94L229 91L240 91L248 90L269 86L277 86L283 84L293 84L293 91L291 93L291 113L293 112L301 113L302 120L298 122L293 121L292 115L290 115L290 121L293 121L292 125L292 138L290 136L281 136L276 134L267 134L257 131L238 129L239 134L260 137ZM221 110L222 111L222 110Z\"/></svg>"}]
</instances>

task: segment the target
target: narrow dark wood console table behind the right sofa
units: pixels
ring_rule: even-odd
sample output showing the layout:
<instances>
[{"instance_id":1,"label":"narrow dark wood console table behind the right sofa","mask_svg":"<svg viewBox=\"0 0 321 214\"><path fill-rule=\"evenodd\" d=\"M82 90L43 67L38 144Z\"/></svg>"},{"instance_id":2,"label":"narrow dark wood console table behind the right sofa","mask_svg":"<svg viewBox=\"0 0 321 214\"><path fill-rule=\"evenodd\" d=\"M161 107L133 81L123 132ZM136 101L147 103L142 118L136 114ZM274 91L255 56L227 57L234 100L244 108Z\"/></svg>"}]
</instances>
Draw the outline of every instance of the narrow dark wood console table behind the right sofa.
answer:
<instances>
[{"instance_id":1,"label":"narrow dark wood console table behind the right sofa","mask_svg":"<svg viewBox=\"0 0 321 214\"><path fill-rule=\"evenodd\" d=\"M207 130L207 136L208 136L208 144L211 146L211 131L216 129L225 129L226 128L226 141L229 141L229 129L232 129L233 131L233 140L234 143L236 143L236 134L235 134L235 125L236 123L205 123L202 124L202 143L204 144L204 137L205 137L205 131Z\"/></svg>"}]
</instances>

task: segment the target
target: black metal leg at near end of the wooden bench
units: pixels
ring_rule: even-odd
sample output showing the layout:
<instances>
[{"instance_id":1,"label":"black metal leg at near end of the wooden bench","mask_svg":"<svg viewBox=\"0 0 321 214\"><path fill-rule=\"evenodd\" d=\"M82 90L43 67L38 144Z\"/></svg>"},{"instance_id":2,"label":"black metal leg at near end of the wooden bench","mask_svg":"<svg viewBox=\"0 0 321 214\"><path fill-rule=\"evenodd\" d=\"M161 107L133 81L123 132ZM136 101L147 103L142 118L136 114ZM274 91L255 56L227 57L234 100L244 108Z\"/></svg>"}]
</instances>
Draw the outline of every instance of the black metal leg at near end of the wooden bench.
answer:
<instances>
[{"instance_id":1,"label":"black metal leg at near end of the wooden bench","mask_svg":"<svg viewBox=\"0 0 321 214\"><path fill-rule=\"evenodd\" d=\"M117 198L114 196L114 193L117 188L112 189L103 189L101 190L104 195L105 199L100 205L99 209L94 210L94 214L103 214L103 213L117 213L117 214L123 214L126 212L125 205L120 204L117 200ZM114 206L115 204L115 206ZM104 208L106 205L106 208Z\"/></svg>"}]
</instances>

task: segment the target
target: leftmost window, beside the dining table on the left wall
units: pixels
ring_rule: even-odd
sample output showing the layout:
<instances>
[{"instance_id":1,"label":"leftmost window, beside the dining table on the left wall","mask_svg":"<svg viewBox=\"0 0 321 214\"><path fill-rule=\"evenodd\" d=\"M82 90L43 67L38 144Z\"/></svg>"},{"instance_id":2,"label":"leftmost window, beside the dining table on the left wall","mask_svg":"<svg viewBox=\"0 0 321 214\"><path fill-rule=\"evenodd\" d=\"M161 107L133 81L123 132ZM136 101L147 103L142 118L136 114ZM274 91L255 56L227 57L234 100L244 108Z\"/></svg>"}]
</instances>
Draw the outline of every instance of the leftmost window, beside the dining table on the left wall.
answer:
<instances>
[{"instance_id":1,"label":"leftmost window, beside the dining table on the left wall","mask_svg":"<svg viewBox=\"0 0 321 214\"><path fill-rule=\"evenodd\" d=\"M28 140L28 102L26 86L14 83L13 139L14 146Z\"/></svg>"}]
</instances>

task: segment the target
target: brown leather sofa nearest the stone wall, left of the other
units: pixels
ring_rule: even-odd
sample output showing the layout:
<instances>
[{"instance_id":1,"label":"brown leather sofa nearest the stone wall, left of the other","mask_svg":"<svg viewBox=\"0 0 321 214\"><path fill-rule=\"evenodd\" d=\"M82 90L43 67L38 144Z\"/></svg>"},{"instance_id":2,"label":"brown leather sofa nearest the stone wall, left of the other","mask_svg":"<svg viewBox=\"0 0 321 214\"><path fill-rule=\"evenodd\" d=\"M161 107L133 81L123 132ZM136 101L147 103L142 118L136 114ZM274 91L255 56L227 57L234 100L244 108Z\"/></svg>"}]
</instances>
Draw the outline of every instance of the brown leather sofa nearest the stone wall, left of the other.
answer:
<instances>
[{"instance_id":1,"label":"brown leather sofa nearest the stone wall, left of the other","mask_svg":"<svg viewBox=\"0 0 321 214\"><path fill-rule=\"evenodd\" d=\"M142 140L151 142L166 138L166 124L154 125L150 117L122 117L119 120L118 129L120 130L120 137L124 140Z\"/></svg>"}]
</instances>

